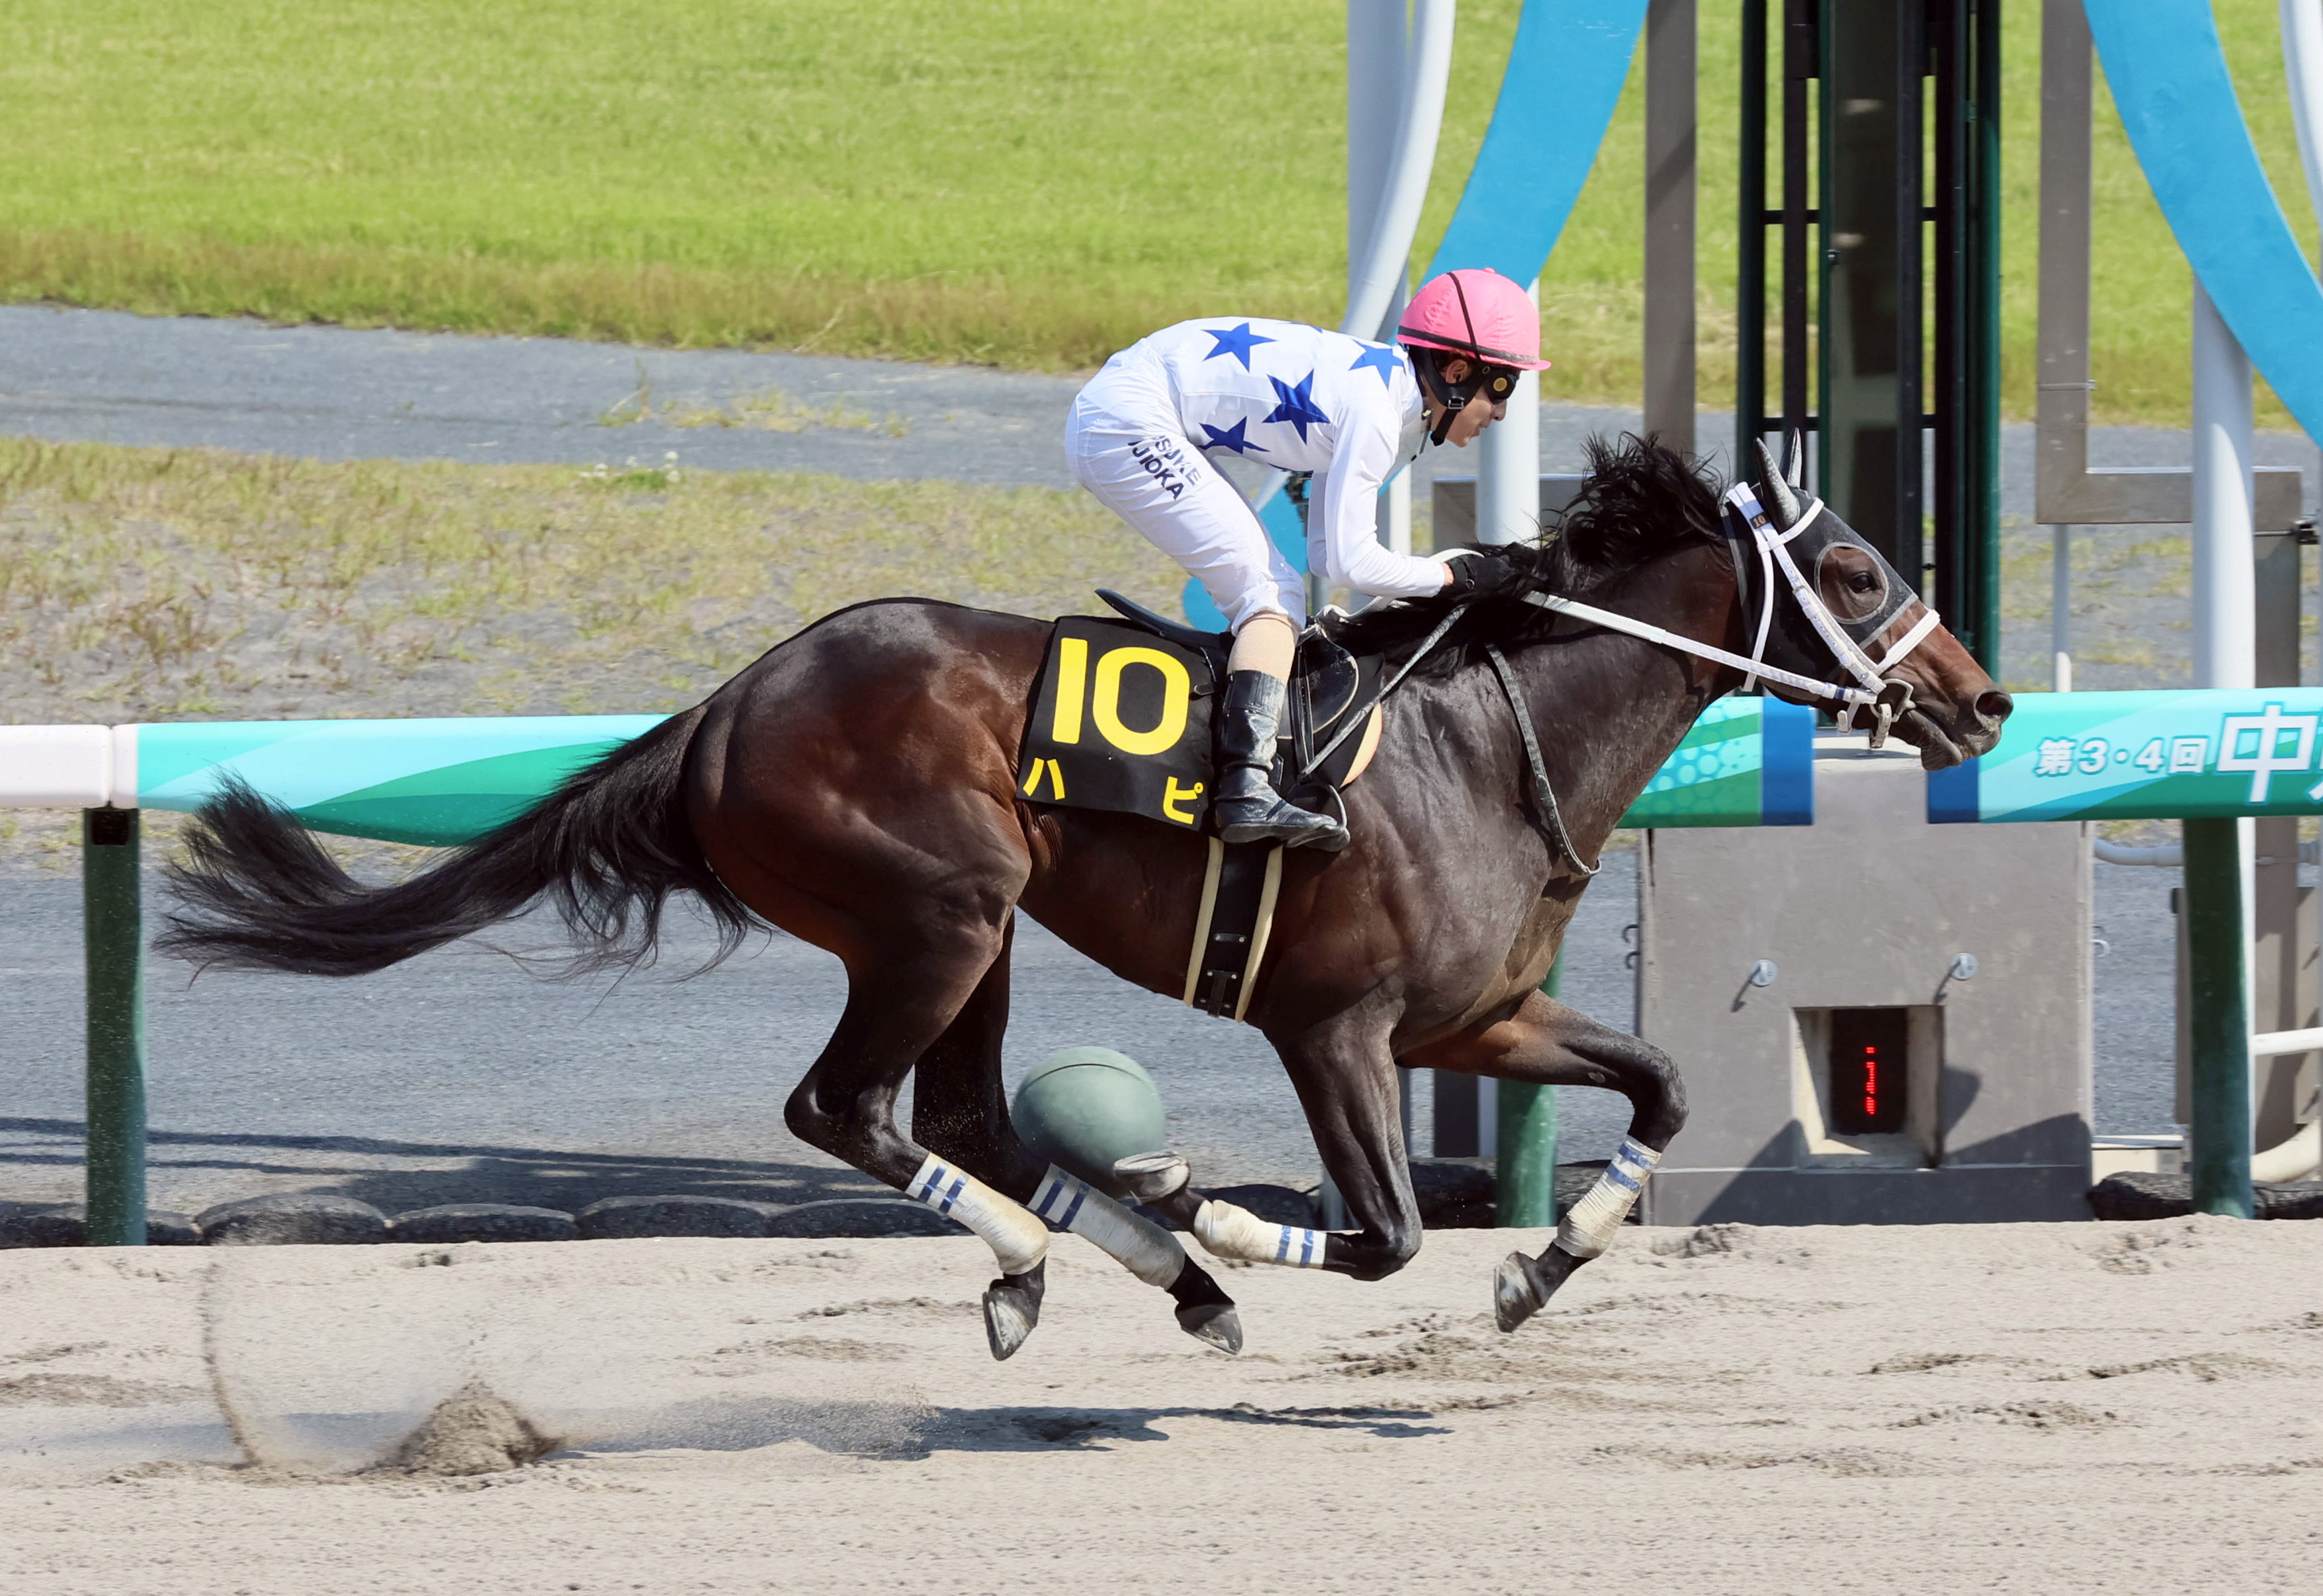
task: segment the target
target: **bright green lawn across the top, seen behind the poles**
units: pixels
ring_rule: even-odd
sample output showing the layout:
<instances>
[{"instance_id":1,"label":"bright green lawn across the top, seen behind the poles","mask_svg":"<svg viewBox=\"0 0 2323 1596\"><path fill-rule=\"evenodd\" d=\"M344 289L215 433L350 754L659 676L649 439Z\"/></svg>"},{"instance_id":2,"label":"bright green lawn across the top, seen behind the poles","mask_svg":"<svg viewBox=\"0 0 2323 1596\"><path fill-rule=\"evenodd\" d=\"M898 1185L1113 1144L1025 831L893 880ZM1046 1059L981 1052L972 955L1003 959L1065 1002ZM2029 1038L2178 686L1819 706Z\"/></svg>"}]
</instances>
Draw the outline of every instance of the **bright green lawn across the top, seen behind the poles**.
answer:
<instances>
[{"instance_id":1,"label":"bright green lawn across the top, seen behind the poles","mask_svg":"<svg viewBox=\"0 0 2323 1596\"><path fill-rule=\"evenodd\" d=\"M1700 9L1721 404L1738 7ZM1515 16L1461 7L1424 244ZM2311 242L2277 7L2218 16ZM0 297L1043 369L1180 316L1331 321L1343 30L1340 5L1217 0L14 0ZM2040 7L2007 30L2007 397L2030 414ZM1542 283L1554 400L1635 400L1640 121L1633 70ZM2186 265L2098 128L2098 414L2181 423Z\"/></svg>"}]
</instances>

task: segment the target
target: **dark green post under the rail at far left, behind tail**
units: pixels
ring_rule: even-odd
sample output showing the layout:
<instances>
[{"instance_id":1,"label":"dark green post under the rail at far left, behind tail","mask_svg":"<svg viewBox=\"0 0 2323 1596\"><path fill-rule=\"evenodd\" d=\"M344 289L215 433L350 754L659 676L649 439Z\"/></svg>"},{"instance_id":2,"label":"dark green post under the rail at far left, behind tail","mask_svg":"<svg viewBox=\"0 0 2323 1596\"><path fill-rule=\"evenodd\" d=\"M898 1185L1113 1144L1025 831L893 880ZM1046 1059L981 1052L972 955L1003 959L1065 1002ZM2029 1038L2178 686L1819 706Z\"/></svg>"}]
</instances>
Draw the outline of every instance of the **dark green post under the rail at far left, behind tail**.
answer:
<instances>
[{"instance_id":1,"label":"dark green post under the rail at far left, behind tail","mask_svg":"<svg viewBox=\"0 0 2323 1596\"><path fill-rule=\"evenodd\" d=\"M81 811L88 1245L144 1245L144 913L137 811Z\"/></svg>"}]
</instances>

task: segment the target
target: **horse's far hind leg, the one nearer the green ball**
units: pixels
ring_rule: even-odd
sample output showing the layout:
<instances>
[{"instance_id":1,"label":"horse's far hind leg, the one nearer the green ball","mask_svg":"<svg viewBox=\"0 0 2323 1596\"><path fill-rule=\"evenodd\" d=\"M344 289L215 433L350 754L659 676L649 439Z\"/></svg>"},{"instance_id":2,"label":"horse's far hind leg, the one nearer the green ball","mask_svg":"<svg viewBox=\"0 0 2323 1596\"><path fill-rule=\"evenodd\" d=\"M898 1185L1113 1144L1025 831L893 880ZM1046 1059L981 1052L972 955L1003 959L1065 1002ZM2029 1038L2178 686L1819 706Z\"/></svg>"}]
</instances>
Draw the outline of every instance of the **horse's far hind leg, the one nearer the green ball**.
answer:
<instances>
[{"instance_id":1,"label":"horse's far hind leg, the one nearer the green ball","mask_svg":"<svg viewBox=\"0 0 2323 1596\"><path fill-rule=\"evenodd\" d=\"M1166 1229L1080 1178L1043 1164L1017 1141L1001 1085L1001 1034L1008 1029L1008 941L952 1025L920 1055L913 1071L911 1134L1050 1224L1073 1231L1145 1285L1178 1301L1178 1327L1220 1347L1243 1350L1243 1324L1210 1273Z\"/></svg>"}]
</instances>

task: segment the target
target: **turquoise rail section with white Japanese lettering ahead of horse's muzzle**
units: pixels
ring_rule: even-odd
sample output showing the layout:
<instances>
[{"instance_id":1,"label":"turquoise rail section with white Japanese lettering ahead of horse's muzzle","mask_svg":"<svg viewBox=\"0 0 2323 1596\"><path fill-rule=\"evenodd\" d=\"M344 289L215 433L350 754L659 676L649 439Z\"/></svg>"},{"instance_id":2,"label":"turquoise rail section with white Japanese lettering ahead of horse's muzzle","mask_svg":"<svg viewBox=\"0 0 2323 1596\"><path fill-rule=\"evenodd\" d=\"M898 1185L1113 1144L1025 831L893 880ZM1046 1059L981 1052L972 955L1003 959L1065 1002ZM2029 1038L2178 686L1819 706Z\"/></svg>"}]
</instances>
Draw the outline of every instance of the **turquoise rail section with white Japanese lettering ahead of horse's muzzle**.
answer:
<instances>
[{"instance_id":1,"label":"turquoise rail section with white Japanese lettering ahead of horse's muzzle","mask_svg":"<svg viewBox=\"0 0 2323 1596\"><path fill-rule=\"evenodd\" d=\"M2323 688L2026 692L2000 746L1928 776L1928 820L2323 813Z\"/></svg>"}]
</instances>

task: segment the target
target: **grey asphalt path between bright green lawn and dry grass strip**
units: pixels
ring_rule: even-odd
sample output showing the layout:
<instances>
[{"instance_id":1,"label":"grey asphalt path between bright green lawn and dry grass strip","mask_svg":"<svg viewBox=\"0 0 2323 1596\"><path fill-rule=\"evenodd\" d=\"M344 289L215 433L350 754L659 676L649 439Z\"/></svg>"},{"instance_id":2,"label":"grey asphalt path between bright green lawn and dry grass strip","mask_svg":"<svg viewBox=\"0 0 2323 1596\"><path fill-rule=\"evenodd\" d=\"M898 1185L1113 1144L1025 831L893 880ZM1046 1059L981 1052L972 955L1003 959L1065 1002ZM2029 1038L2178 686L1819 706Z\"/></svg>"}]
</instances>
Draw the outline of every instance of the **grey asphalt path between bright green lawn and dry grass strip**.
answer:
<instances>
[{"instance_id":1,"label":"grey asphalt path between bright green lawn and dry grass strip","mask_svg":"<svg viewBox=\"0 0 2323 1596\"><path fill-rule=\"evenodd\" d=\"M1071 488L1062 432L1080 381L727 348L0 307L5 434L316 460L620 465L676 451L681 465L718 472ZM655 407L720 407L783 390L801 409L843 404L878 425L604 425L634 414L641 390ZM901 434L885 427L890 416ZM1635 425L1633 409L1542 404L1542 469L1577 469L1584 439ZM1731 414L1703 411L1696 437L1700 448L1728 453ZM2316 451L2304 437L2265 432L2256 455L2260 465L2304 467L2314 497ZM2177 430L2095 427L2091 458L2184 465L2188 444ZM1412 467L1415 493L1424 495L1438 472L1473 474L1473 455L1429 451ZM2033 427L2002 427L2000 502L2005 518L2033 518Z\"/></svg>"}]
</instances>

